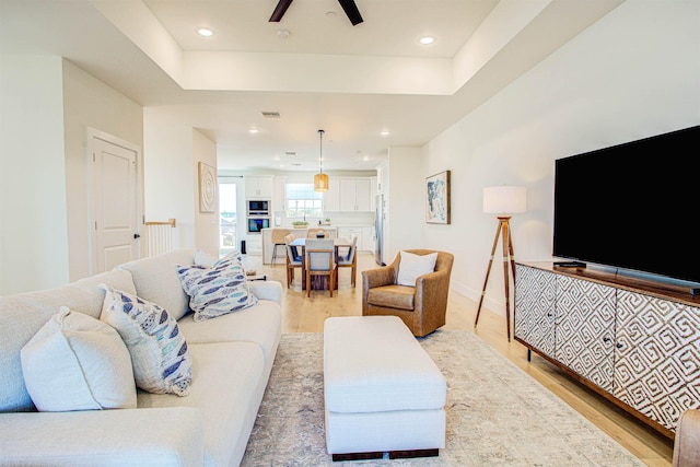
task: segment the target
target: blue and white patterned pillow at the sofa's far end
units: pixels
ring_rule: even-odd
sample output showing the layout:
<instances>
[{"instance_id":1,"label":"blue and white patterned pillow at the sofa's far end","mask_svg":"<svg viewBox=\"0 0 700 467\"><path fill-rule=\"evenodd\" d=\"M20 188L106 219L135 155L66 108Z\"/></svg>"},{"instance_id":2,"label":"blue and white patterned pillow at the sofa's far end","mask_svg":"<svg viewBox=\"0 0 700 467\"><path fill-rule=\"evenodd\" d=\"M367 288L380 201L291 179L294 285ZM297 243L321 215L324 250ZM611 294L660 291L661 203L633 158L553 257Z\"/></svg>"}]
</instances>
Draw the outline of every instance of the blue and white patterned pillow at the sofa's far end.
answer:
<instances>
[{"instance_id":1,"label":"blue and white patterned pillow at the sofa's far end","mask_svg":"<svg viewBox=\"0 0 700 467\"><path fill-rule=\"evenodd\" d=\"M189 295L194 320L201 322L256 305L245 269L236 257L223 257L211 268L178 266L177 276Z\"/></svg>"}]
</instances>

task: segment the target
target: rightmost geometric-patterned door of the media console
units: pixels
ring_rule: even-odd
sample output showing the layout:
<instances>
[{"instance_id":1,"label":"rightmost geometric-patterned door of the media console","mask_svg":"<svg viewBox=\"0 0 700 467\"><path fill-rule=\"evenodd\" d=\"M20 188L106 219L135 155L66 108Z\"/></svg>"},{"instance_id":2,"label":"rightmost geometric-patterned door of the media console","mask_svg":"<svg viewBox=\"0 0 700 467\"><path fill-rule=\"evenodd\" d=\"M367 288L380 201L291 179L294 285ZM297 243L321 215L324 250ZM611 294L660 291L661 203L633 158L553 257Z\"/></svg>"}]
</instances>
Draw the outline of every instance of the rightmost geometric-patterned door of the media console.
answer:
<instances>
[{"instance_id":1,"label":"rightmost geometric-patterned door of the media console","mask_svg":"<svg viewBox=\"0 0 700 467\"><path fill-rule=\"evenodd\" d=\"M615 397L675 431L700 408L700 308L618 291Z\"/></svg>"}]
</instances>

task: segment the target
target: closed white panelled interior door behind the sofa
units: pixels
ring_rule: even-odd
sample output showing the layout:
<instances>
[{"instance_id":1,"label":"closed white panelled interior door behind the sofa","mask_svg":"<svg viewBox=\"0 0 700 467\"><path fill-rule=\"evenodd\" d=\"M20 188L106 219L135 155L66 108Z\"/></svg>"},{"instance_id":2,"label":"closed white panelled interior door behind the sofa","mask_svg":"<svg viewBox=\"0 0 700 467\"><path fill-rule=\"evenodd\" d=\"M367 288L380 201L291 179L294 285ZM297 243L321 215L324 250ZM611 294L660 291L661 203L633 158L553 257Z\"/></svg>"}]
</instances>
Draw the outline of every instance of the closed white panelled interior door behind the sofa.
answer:
<instances>
[{"instance_id":1,"label":"closed white panelled interior door behind the sofa","mask_svg":"<svg viewBox=\"0 0 700 467\"><path fill-rule=\"evenodd\" d=\"M93 137L93 272L139 257L138 150Z\"/></svg>"}]
</instances>

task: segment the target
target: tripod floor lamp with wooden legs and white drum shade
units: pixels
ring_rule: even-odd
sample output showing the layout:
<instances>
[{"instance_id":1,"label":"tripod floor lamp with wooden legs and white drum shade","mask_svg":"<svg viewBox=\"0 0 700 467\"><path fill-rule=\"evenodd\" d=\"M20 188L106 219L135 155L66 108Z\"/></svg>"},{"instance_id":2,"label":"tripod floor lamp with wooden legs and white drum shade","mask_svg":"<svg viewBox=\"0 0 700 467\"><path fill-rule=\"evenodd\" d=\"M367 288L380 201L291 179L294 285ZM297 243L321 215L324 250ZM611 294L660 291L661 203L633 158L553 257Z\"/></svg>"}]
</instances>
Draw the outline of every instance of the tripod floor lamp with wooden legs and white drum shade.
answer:
<instances>
[{"instance_id":1,"label":"tripod floor lamp with wooden legs and white drum shade","mask_svg":"<svg viewBox=\"0 0 700 467\"><path fill-rule=\"evenodd\" d=\"M501 243L503 244L503 283L505 284L505 329L509 342L511 341L511 275L509 273L509 264L513 275L513 282L515 282L515 257L513 256L510 214L525 212L526 208L527 189L525 187L497 186L483 188L483 212L499 214L499 225L495 227L495 237L493 238L493 247L491 248L491 259L489 259L489 267L486 270L483 290L481 291L481 299L479 299L479 307L477 308L477 317L474 322L474 327L477 327L477 324L479 323L479 314L481 314L481 305L483 304L483 296L486 295L486 287L489 283L491 266L493 266L495 247L499 243L499 236L501 236Z\"/></svg>"}]
</instances>

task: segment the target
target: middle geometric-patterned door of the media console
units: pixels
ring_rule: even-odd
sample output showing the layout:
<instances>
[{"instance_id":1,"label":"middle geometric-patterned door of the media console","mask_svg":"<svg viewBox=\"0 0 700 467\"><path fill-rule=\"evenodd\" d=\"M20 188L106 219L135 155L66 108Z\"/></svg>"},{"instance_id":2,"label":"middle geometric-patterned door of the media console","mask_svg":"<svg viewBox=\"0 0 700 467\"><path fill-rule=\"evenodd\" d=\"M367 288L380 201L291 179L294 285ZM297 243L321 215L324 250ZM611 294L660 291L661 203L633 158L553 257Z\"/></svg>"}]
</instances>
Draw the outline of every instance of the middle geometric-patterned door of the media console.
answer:
<instances>
[{"instance_id":1,"label":"middle geometric-patterned door of the media console","mask_svg":"<svg viewBox=\"0 0 700 467\"><path fill-rule=\"evenodd\" d=\"M557 275L557 360L612 393L616 289Z\"/></svg>"}]
</instances>

